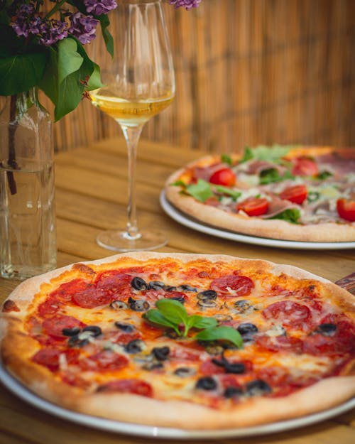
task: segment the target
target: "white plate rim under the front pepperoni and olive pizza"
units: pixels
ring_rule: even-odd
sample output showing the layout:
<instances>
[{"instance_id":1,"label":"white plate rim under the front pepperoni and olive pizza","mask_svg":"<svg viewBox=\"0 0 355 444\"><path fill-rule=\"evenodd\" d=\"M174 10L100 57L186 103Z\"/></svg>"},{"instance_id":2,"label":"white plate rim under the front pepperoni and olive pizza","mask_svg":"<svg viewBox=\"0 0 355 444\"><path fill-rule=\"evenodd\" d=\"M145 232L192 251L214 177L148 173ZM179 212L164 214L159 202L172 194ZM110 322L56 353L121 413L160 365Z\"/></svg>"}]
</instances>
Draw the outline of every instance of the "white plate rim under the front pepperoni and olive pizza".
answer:
<instances>
[{"instance_id":1,"label":"white plate rim under the front pepperoni and olive pizza","mask_svg":"<svg viewBox=\"0 0 355 444\"><path fill-rule=\"evenodd\" d=\"M201 438L240 438L245 436L263 435L266 433L275 433L310 426L311 424L325 421L334 416L345 413L355 407L355 398L346 401L340 406L330 408L320 413L314 413L301 418L290 419L288 421L280 421L276 423L266 424L263 426L231 428L222 431L201 431L192 430L185 431L180 428L165 428L154 426L143 426L142 424L122 423L120 421L112 421L110 419L99 418L97 416L84 415L75 411L67 410L55 404L45 401L45 399L33 394L32 391L26 389L20 382L14 379L4 367L0 366L0 381L16 396L23 399L40 410L50 413L53 416L65 419L72 423L81 424L82 426L99 428L100 430L126 433L128 435L145 436L146 438L180 438L180 439L201 439Z\"/></svg>"}]
</instances>

